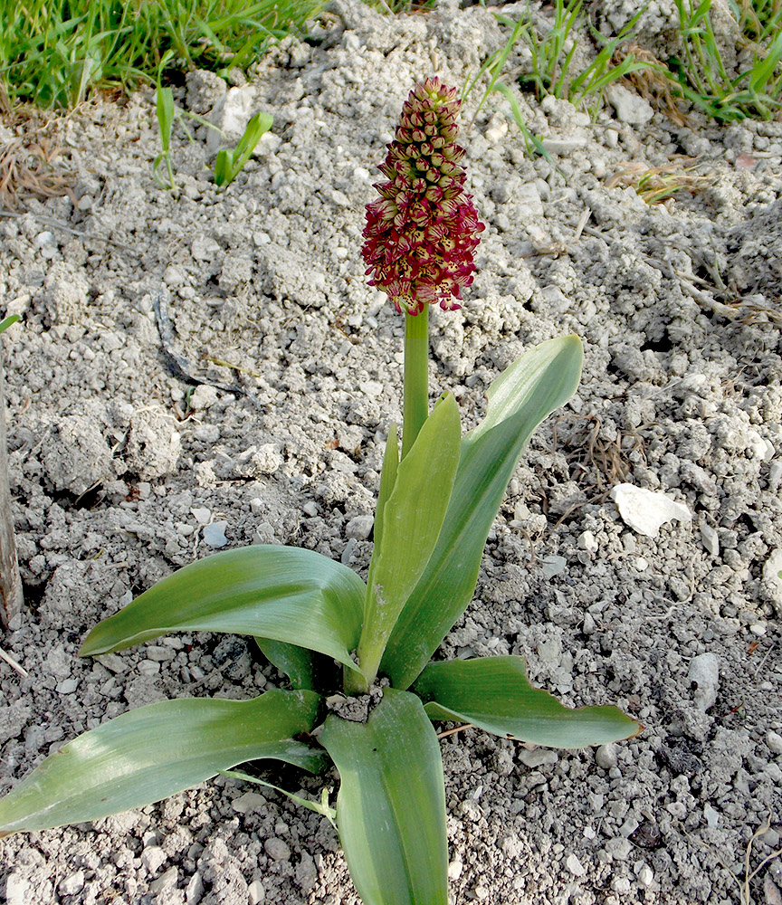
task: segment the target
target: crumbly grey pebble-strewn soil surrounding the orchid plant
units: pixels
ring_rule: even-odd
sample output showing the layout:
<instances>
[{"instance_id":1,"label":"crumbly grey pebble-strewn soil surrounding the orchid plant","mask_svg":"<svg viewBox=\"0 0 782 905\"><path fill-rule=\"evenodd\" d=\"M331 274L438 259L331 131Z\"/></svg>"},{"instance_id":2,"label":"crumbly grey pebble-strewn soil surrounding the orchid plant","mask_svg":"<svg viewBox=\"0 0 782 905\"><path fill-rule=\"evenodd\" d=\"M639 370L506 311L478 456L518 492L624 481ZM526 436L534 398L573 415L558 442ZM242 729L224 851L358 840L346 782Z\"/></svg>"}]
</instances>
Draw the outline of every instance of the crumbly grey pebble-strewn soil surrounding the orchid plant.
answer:
<instances>
[{"instance_id":1,"label":"crumbly grey pebble-strewn soil surrounding the orchid plant","mask_svg":"<svg viewBox=\"0 0 782 905\"><path fill-rule=\"evenodd\" d=\"M28 675L0 662L0 791L129 707L283 683L232 636L75 658L159 576L253 542L367 567L402 324L363 277L363 205L433 55L461 86L504 38L481 7L334 10L320 43L283 44L225 99L197 72L177 92L204 115L273 114L227 191L205 130L178 127L181 194L156 186L142 91L60 126L75 205L0 218L0 298L24 318L4 342L30 605L2 641ZM647 11L647 42L664 14ZM530 345L575 331L586 367L511 481L445 648L524 654L568 704L615 702L645 729L596 752L444 739L453 901L749 905L731 872L768 819L751 868L779 847L782 814L782 125L676 125L632 93L595 121L518 100L553 163L529 157L500 95L463 134L487 230L463 310L434 316L433 393L452 389L471 425ZM646 205L633 172L681 154L698 158L694 193ZM175 376L167 348L205 382ZM646 536L626 488L612 499L624 484L667 498L642 516L672 500L676 520ZM4 883L12 905L356 902L326 821L233 780L6 839ZM777 857L750 893L780 890Z\"/></svg>"}]
</instances>

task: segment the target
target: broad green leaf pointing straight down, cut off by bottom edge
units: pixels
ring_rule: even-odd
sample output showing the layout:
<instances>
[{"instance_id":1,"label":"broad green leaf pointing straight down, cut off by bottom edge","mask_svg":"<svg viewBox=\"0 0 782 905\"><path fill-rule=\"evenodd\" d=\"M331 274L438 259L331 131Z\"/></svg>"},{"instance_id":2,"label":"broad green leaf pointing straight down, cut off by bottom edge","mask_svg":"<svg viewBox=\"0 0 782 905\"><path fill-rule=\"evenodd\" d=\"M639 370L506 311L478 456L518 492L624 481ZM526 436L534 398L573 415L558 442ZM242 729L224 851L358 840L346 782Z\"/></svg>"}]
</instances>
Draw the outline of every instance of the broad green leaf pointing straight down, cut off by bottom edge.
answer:
<instances>
[{"instance_id":1,"label":"broad green leaf pointing straight down, cut off by bottom edge","mask_svg":"<svg viewBox=\"0 0 782 905\"><path fill-rule=\"evenodd\" d=\"M446 905L443 763L421 701L386 688L367 723L330 714L320 742L339 770L339 840L364 905Z\"/></svg>"}]
</instances>

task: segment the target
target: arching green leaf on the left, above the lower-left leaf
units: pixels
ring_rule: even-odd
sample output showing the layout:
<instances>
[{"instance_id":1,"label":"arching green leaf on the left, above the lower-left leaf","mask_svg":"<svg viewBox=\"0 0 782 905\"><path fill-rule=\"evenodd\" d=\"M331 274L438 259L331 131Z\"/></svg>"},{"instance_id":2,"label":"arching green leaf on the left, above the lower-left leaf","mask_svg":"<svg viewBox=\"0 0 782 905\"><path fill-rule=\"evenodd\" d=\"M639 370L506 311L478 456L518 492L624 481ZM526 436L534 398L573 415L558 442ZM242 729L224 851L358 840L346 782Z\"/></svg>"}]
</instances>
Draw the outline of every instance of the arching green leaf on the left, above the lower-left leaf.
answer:
<instances>
[{"instance_id":1,"label":"arching green leaf on the left, above the lower-left leaf","mask_svg":"<svg viewBox=\"0 0 782 905\"><path fill-rule=\"evenodd\" d=\"M87 635L82 657L170 632L253 634L357 669L364 582L312 550L256 545L199 559L158 581Z\"/></svg>"}]
</instances>

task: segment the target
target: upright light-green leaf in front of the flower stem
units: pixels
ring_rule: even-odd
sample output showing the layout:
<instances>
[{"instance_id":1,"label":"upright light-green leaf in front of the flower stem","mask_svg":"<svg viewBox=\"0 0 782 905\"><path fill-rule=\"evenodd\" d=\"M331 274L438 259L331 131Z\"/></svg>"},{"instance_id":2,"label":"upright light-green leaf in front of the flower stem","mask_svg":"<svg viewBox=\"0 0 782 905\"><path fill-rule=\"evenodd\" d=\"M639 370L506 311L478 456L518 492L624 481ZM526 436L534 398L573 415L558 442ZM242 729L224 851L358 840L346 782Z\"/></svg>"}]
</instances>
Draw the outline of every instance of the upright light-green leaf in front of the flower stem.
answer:
<instances>
[{"instance_id":1,"label":"upright light-green leaf in front of the flower stem","mask_svg":"<svg viewBox=\"0 0 782 905\"><path fill-rule=\"evenodd\" d=\"M450 393L434 406L396 472L369 567L358 662L374 681L396 617L440 534L459 463L459 407Z\"/></svg>"}]
</instances>

